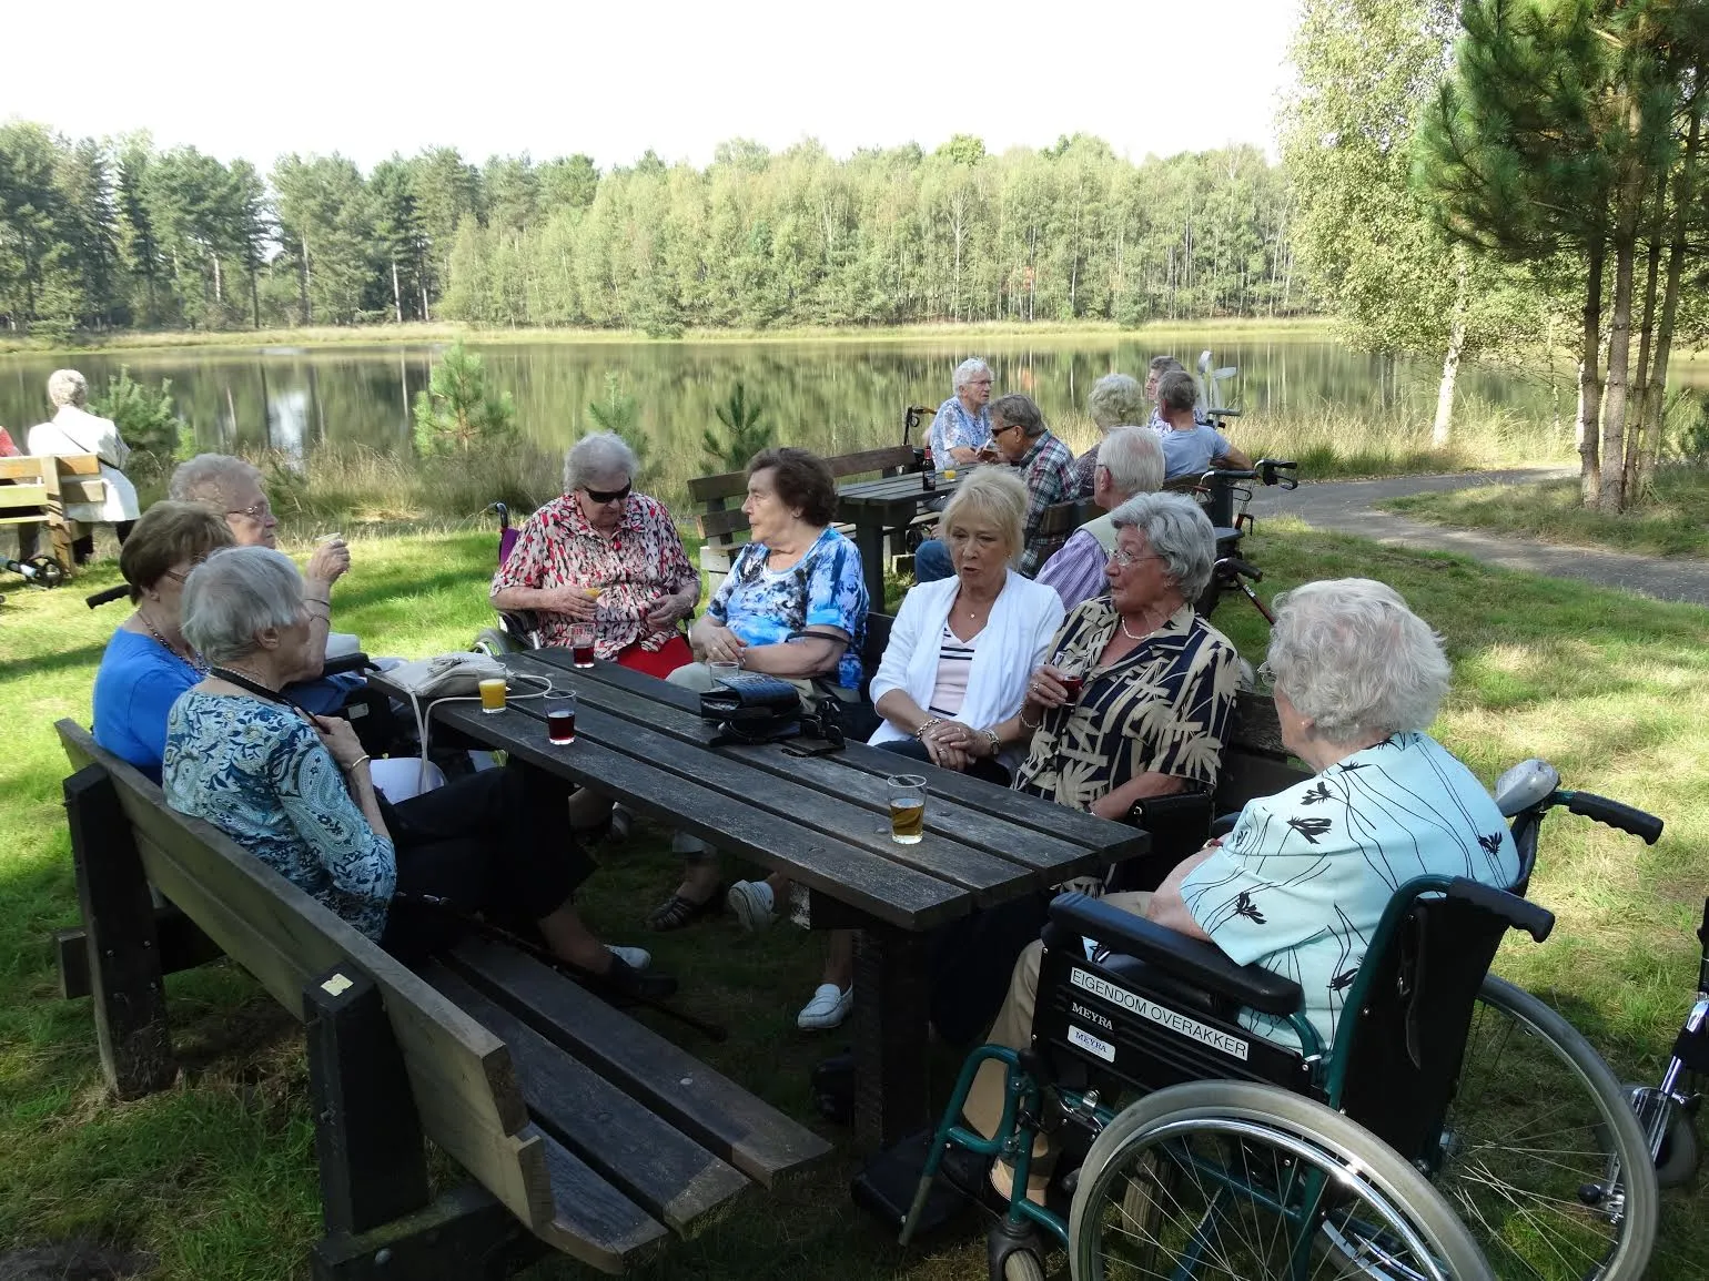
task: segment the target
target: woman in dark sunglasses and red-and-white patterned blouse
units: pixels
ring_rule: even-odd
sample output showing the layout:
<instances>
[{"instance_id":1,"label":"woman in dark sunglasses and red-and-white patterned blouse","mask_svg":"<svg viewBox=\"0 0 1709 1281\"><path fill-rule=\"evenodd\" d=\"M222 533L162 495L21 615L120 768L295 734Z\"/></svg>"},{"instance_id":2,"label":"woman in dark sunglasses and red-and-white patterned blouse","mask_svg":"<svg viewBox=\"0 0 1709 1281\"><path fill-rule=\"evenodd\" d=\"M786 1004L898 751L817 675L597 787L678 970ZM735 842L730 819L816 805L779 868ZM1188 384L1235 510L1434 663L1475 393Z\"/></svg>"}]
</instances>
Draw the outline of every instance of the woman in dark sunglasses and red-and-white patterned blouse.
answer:
<instances>
[{"instance_id":1,"label":"woman in dark sunglasses and red-and-white patterned blouse","mask_svg":"<svg viewBox=\"0 0 1709 1281\"><path fill-rule=\"evenodd\" d=\"M547 646L591 623L596 658L663 678L694 661L677 623L701 576L665 504L634 492L636 471L620 436L581 437L564 454L564 495L523 523L492 576L492 608L537 611Z\"/></svg>"}]
</instances>

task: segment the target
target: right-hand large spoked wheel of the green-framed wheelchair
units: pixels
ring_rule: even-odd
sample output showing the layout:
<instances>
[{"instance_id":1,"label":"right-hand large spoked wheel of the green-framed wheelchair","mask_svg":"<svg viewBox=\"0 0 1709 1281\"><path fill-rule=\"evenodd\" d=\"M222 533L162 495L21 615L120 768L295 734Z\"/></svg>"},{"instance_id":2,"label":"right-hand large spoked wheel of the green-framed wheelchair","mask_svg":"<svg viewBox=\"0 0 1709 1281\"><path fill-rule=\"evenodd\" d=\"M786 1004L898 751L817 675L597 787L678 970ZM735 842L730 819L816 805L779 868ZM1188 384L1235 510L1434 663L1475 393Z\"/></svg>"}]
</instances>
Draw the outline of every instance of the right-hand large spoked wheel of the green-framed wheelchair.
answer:
<instances>
[{"instance_id":1,"label":"right-hand large spoked wheel of the green-framed wheelchair","mask_svg":"<svg viewBox=\"0 0 1709 1281\"><path fill-rule=\"evenodd\" d=\"M1632 1281L1656 1172L1620 1081L1571 1023L1489 975L1434 1179L1502 1281Z\"/></svg>"}]
</instances>

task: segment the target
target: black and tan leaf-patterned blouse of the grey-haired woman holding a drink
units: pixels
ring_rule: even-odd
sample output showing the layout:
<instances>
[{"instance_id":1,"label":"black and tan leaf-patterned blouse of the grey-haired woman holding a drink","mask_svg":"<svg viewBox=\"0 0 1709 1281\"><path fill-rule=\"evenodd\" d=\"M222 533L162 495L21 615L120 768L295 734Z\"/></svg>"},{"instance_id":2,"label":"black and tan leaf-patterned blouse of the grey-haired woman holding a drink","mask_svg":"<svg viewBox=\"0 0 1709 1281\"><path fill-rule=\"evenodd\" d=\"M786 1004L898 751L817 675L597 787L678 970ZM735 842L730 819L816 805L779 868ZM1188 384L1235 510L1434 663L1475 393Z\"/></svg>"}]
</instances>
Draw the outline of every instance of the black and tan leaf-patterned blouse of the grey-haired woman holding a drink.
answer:
<instances>
[{"instance_id":1,"label":"black and tan leaf-patterned blouse of the grey-haired woman holding a drink","mask_svg":"<svg viewBox=\"0 0 1709 1281\"><path fill-rule=\"evenodd\" d=\"M1046 652L1085 671L1080 699L1044 712L1015 789L1090 810L1140 774L1208 789L1222 769L1237 658L1222 632L1181 606L1109 666L1094 666L1121 617L1107 596L1077 606Z\"/></svg>"}]
</instances>

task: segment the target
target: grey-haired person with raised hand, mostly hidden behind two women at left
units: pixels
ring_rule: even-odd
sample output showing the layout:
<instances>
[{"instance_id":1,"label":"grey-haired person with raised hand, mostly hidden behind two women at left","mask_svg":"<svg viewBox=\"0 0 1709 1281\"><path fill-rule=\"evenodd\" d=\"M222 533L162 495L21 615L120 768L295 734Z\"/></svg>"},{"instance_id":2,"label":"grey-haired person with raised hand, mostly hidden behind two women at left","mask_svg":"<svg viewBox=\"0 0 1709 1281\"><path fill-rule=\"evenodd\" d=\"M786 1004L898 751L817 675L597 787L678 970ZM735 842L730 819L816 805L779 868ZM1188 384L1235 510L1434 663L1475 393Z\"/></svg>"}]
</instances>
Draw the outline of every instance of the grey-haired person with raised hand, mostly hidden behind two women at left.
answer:
<instances>
[{"instance_id":1,"label":"grey-haired person with raised hand, mostly hidden behind two women at left","mask_svg":"<svg viewBox=\"0 0 1709 1281\"><path fill-rule=\"evenodd\" d=\"M167 482L167 497L200 502L231 526L238 547L275 547L279 518L261 488L261 470L231 454L197 454L179 463ZM328 538L314 548L302 577L308 581L314 644L328 652L332 632L332 588L350 569L350 548L344 538ZM338 635L333 649L355 649L355 637ZM338 673L302 681L291 697L311 712L335 712L352 690L362 685L354 673Z\"/></svg>"}]
</instances>

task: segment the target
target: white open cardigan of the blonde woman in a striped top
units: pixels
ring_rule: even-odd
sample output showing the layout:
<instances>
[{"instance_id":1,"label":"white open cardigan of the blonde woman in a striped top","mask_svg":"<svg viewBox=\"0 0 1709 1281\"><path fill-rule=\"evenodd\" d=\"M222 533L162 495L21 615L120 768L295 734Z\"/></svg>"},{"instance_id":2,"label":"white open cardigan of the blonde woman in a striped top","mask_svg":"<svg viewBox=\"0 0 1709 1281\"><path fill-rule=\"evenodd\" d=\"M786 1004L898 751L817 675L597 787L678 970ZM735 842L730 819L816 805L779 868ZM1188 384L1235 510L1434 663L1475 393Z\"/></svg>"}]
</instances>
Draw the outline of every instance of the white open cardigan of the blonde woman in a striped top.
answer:
<instances>
[{"instance_id":1,"label":"white open cardigan of the blonde woman in a striped top","mask_svg":"<svg viewBox=\"0 0 1709 1281\"><path fill-rule=\"evenodd\" d=\"M938 644L950 603L960 591L960 579L950 576L937 582L909 588L890 629L878 675L872 678L872 700L890 690L902 690L921 709L931 704L938 685ZM967 699L955 716L974 729L1007 721L1027 699L1027 678L1044 663L1051 637L1063 625L1063 601L1053 588L1008 570L996 594L991 617L979 634L972 668L967 671ZM907 738L889 721L880 721L872 743Z\"/></svg>"}]
</instances>

